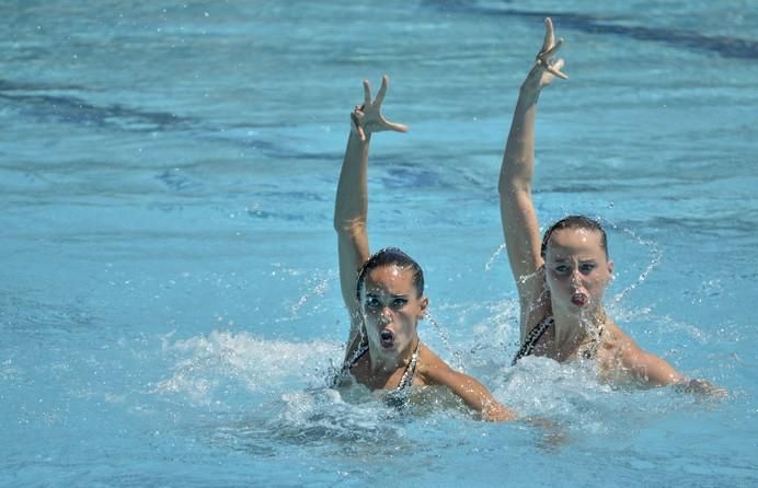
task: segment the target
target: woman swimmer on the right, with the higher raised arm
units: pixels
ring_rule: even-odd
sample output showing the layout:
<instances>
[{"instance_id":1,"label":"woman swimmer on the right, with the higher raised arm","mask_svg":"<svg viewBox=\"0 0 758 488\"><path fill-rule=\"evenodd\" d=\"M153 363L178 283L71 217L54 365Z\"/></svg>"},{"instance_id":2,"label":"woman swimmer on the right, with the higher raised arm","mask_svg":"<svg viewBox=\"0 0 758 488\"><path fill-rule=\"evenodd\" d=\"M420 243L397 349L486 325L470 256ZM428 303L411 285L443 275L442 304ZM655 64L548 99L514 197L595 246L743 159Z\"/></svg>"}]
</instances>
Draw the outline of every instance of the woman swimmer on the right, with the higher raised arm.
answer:
<instances>
[{"instance_id":1,"label":"woman swimmer on the right, with the higher raised arm","mask_svg":"<svg viewBox=\"0 0 758 488\"><path fill-rule=\"evenodd\" d=\"M520 301L522 357L544 356L559 362L594 361L606 381L648 386L676 385L693 393L724 395L703 380L688 380L659 357L642 350L606 314L604 292L613 277L606 232L585 216L552 224L540 239L531 199L535 173L535 118L543 88L567 79L563 59L545 19L537 61L521 84L499 175L501 217L508 260Z\"/></svg>"}]
</instances>

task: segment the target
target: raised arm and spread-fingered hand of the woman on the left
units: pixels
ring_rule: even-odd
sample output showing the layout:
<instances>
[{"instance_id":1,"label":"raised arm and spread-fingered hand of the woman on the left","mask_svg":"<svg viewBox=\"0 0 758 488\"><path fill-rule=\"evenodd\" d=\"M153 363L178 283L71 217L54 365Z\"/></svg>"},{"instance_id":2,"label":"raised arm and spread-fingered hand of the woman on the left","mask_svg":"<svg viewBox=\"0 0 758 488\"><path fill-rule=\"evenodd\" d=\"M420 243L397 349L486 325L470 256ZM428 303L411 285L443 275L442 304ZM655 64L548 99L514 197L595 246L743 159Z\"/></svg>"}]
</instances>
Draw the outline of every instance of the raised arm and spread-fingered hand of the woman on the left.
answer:
<instances>
[{"instance_id":1,"label":"raised arm and spread-fingered hand of the woman on the left","mask_svg":"<svg viewBox=\"0 0 758 488\"><path fill-rule=\"evenodd\" d=\"M368 147L371 133L382 130L406 132L401 124L390 123L381 115L381 104L389 86L387 75L381 79L381 88L371 102L371 88L364 80L364 104L356 105L351 113L351 135L347 139L345 159L340 172L337 195L334 205L334 229L337 232L340 255L340 284L342 298L351 316L349 345L360 330L356 280L360 266L369 257L366 221L368 214Z\"/></svg>"}]
</instances>

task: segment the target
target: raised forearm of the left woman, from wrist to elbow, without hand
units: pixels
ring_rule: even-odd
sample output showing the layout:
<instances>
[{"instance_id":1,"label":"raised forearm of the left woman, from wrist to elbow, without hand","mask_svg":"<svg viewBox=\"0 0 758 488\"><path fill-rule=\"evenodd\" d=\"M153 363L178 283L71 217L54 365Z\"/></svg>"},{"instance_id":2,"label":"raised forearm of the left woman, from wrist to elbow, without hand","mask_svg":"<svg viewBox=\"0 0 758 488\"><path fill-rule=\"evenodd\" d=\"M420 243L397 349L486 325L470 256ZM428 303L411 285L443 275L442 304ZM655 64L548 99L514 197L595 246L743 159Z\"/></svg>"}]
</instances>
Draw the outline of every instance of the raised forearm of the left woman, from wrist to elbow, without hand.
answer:
<instances>
[{"instance_id":1,"label":"raised forearm of the left woman, from wrist to elbow, without hand","mask_svg":"<svg viewBox=\"0 0 758 488\"><path fill-rule=\"evenodd\" d=\"M337 233L353 234L366 226L368 214L368 149L370 135L361 141L351 131L345 149L345 159L340 172L337 195L334 205L334 229Z\"/></svg>"}]
</instances>

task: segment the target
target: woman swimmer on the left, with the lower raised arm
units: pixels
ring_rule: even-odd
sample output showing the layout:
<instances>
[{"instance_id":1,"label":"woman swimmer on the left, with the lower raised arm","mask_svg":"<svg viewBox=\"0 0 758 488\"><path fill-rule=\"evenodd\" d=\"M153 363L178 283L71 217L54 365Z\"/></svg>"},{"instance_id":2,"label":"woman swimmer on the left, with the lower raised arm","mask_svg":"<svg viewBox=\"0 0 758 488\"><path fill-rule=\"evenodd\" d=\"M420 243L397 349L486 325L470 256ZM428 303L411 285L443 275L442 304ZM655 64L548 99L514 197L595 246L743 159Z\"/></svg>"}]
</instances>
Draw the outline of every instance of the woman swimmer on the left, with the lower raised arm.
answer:
<instances>
[{"instance_id":1,"label":"woman swimmer on the left, with the lower raised arm","mask_svg":"<svg viewBox=\"0 0 758 488\"><path fill-rule=\"evenodd\" d=\"M364 81L364 103L351 114L351 135L337 185L334 229L340 254L340 283L351 317L351 332L342 370L332 386L357 382L383 391L388 404L403 406L410 387L440 385L449 388L471 409L490 421L515 419L490 391L473 377L452 370L438 358L417 333L428 299L418 264L398 248L369 253L368 149L380 131L406 132L407 128L384 119L381 104L389 79L384 75L371 101Z\"/></svg>"}]
</instances>

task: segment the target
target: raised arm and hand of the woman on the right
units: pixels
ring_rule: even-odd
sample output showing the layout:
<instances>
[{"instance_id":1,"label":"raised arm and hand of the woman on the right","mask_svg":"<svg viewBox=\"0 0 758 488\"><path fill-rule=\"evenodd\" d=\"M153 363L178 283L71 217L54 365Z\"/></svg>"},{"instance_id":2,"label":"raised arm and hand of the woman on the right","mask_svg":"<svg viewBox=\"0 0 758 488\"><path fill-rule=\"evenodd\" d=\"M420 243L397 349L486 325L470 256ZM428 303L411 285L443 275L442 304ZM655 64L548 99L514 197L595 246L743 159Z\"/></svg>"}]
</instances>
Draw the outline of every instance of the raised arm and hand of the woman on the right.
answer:
<instances>
[{"instance_id":1,"label":"raised arm and hand of the woman on the right","mask_svg":"<svg viewBox=\"0 0 758 488\"><path fill-rule=\"evenodd\" d=\"M555 42L550 19L545 19L544 24L542 49L537 55L537 62L518 94L498 185L505 244L522 305L533 297L535 288L541 287L541 280L528 278L535 276L543 263L540 257L541 241L537 212L531 200L537 101L542 89L555 77L567 78L561 72L563 60L553 59L563 39Z\"/></svg>"}]
</instances>

